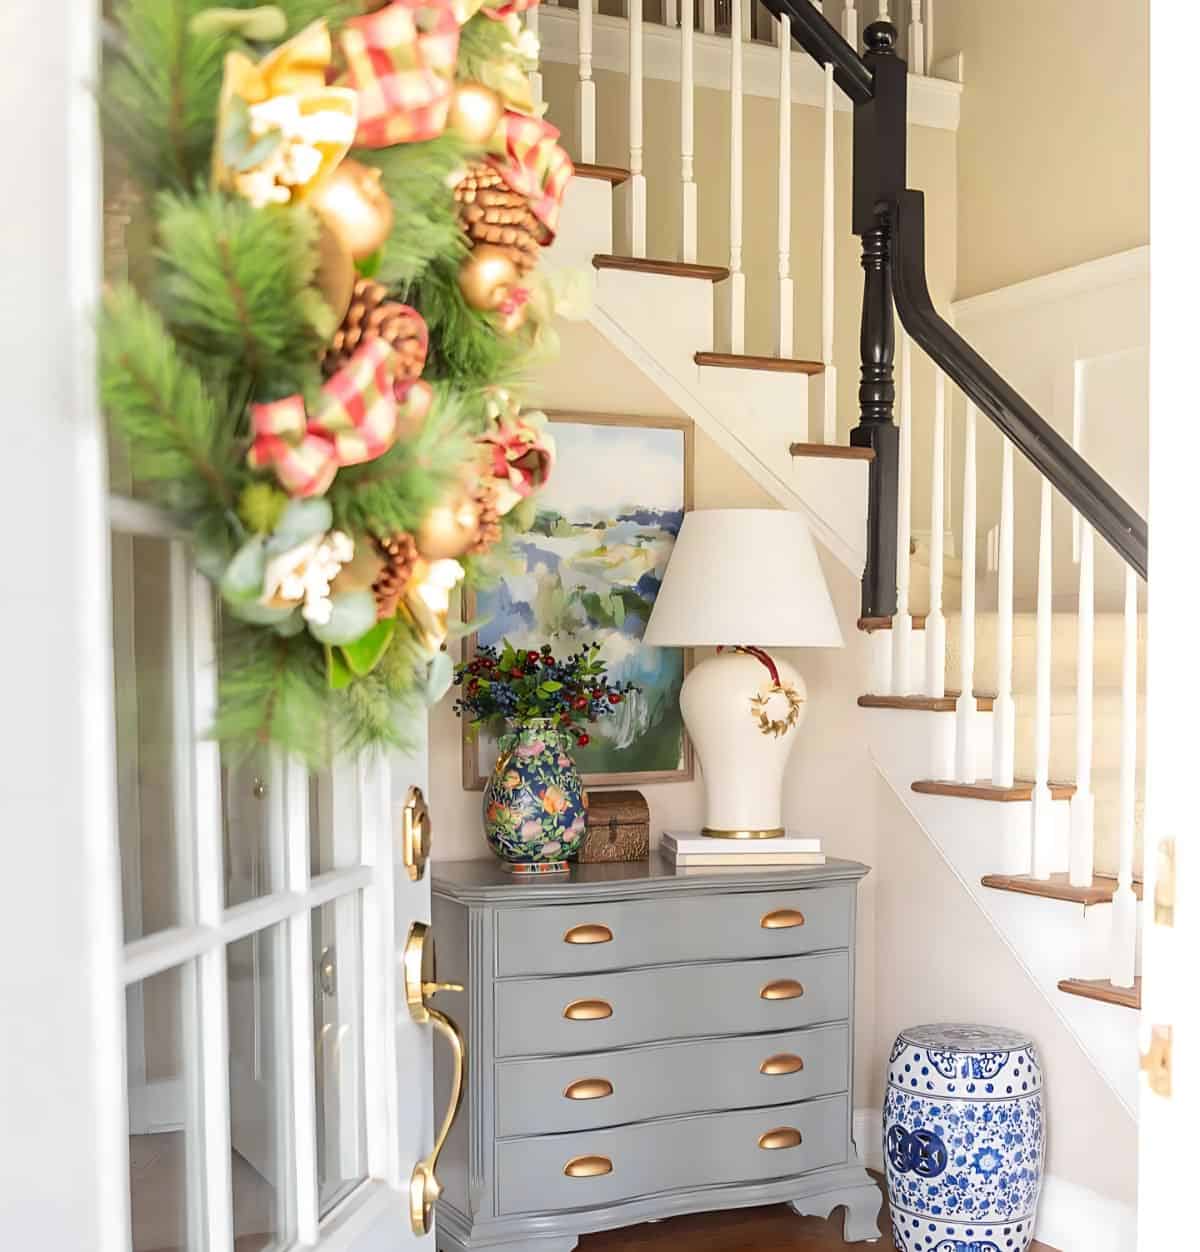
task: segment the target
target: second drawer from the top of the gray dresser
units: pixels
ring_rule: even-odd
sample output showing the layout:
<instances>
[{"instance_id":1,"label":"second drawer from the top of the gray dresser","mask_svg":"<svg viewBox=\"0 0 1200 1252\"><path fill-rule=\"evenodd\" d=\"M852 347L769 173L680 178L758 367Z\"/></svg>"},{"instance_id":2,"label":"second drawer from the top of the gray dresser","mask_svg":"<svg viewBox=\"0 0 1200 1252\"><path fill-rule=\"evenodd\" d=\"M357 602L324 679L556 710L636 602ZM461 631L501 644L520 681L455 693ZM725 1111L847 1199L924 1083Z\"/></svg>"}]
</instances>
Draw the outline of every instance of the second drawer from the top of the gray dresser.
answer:
<instances>
[{"instance_id":1,"label":"second drawer from the top of the gray dresser","mask_svg":"<svg viewBox=\"0 0 1200 1252\"><path fill-rule=\"evenodd\" d=\"M794 1030L849 1018L849 954L671 965L495 985L496 1055Z\"/></svg>"}]
</instances>

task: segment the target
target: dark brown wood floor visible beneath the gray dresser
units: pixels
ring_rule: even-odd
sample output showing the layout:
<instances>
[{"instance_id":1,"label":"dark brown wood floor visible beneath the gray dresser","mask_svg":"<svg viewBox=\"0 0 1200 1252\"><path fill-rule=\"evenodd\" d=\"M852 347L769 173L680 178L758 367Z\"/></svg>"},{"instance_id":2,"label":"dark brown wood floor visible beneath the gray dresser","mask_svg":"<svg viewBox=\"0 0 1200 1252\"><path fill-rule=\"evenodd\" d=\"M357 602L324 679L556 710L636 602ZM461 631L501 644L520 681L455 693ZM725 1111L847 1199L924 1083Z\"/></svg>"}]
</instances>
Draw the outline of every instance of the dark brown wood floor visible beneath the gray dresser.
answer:
<instances>
[{"instance_id":1,"label":"dark brown wood floor visible beneath the gray dresser","mask_svg":"<svg viewBox=\"0 0 1200 1252\"><path fill-rule=\"evenodd\" d=\"M587 1234L579 1252L896 1252L887 1208L879 1213L887 1233L878 1243L843 1243L842 1211L829 1221L797 1217L785 1204L743 1208L725 1213L698 1213L665 1222L630 1226L623 1231ZM1030 1252L1055 1252L1045 1243L1032 1243Z\"/></svg>"}]
</instances>

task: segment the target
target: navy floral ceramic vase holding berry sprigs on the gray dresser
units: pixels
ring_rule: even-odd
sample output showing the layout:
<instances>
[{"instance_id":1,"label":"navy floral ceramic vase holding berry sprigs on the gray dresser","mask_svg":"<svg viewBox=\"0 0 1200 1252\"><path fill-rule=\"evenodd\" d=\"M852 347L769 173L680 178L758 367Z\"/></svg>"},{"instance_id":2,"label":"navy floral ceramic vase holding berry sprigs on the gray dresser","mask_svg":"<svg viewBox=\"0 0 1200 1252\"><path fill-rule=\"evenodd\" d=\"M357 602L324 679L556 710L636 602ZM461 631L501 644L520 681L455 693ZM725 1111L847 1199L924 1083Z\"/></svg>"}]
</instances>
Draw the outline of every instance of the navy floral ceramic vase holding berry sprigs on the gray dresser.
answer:
<instances>
[{"instance_id":1,"label":"navy floral ceramic vase holding berry sprigs on the gray dresser","mask_svg":"<svg viewBox=\"0 0 1200 1252\"><path fill-rule=\"evenodd\" d=\"M584 841L587 796L574 741L551 721L510 726L484 791L484 831L514 874L554 874Z\"/></svg>"}]
</instances>

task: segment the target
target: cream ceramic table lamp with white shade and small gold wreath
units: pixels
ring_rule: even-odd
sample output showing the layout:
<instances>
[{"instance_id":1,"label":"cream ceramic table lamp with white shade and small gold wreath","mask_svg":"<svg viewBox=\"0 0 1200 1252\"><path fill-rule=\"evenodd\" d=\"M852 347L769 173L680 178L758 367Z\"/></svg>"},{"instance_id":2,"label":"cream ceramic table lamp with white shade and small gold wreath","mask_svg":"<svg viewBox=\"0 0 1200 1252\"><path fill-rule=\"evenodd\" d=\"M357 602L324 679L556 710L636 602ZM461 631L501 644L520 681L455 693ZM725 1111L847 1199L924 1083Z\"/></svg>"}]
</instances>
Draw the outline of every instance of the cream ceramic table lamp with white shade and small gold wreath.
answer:
<instances>
[{"instance_id":1,"label":"cream ceramic table lamp with white shade and small gold wreath","mask_svg":"<svg viewBox=\"0 0 1200 1252\"><path fill-rule=\"evenodd\" d=\"M784 834L783 775L805 712L804 680L768 650L842 647L808 523L773 508L684 517L645 641L715 646L679 706L704 771L704 834Z\"/></svg>"}]
</instances>

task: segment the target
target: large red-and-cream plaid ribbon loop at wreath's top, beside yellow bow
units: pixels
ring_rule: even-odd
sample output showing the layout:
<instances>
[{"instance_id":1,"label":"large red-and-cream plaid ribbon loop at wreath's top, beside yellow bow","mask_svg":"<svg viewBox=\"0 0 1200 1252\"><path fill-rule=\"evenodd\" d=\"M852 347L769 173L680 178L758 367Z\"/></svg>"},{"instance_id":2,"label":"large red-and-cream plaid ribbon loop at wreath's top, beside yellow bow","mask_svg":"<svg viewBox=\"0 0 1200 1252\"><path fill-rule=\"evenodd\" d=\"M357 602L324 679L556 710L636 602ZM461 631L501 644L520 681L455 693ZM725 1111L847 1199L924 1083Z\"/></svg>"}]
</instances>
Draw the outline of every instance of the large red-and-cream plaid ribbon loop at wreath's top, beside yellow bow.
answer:
<instances>
[{"instance_id":1,"label":"large red-and-cream plaid ribbon loop at wreath's top, beside yellow bow","mask_svg":"<svg viewBox=\"0 0 1200 1252\"><path fill-rule=\"evenodd\" d=\"M458 58L453 0L395 0L351 19L341 40L359 146L420 143L446 129Z\"/></svg>"}]
</instances>

